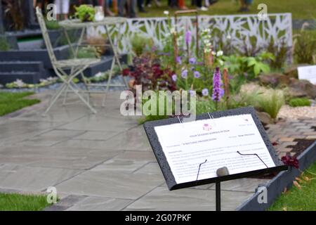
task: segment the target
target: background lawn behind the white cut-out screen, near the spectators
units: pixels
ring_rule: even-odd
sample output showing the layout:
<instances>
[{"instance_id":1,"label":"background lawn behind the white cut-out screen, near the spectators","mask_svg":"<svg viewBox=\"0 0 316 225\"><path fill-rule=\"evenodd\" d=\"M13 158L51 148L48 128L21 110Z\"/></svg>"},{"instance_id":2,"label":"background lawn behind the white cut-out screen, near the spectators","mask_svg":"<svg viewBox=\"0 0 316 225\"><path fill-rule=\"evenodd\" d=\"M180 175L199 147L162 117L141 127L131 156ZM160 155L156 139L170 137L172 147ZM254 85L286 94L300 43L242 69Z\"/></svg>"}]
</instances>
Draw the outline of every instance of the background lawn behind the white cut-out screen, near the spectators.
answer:
<instances>
[{"instance_id":1,"label":"background lawn behind the white cut-out screen, near the spectators","mask_svg":"<svg viewBox=\"0 0 316 225\"><path fill-rule=\"evenodd\" d=\"M186 6L192 8L191 0L185 0ZM316 17L316 1L315 0L254 0L250 11L246 14L258 13L258 4L264 3L268 6L268 13L292 13L295 19L315 19ZM232 0L218 0L216 4L210 6L209 11L200 12L200 15L235 15L240 14L237 12L239 5L237 1ZM140 17L159 17L164 16L164 11L170 11L171 15L175 10L167 7L167 1L162 0L162 6L157 8L153 5L147 8L149 13L139 13Z\"/></svg>"}]
</instances>

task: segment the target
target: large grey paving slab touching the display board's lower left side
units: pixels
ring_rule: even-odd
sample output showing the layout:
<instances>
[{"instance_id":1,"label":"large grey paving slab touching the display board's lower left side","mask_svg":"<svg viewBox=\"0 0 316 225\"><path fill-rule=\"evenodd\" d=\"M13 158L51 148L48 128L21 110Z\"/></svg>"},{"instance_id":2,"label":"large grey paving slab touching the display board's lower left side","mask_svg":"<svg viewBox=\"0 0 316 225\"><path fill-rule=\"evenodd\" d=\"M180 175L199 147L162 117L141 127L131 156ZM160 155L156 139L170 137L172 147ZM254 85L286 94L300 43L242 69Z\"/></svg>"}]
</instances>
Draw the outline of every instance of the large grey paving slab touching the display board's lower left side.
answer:
<instances>
[{"instance_id":1,"label":"large grey paving slab touching the display board's lower left side","mask_svg":"<svg viewBox=\"0 0 316 225\"><path fill-rule=\"evenodd\" d=\"M163 182L162 175L88 171L56 188L60 193L136 200Z\"/></svg>"}]
</instances>

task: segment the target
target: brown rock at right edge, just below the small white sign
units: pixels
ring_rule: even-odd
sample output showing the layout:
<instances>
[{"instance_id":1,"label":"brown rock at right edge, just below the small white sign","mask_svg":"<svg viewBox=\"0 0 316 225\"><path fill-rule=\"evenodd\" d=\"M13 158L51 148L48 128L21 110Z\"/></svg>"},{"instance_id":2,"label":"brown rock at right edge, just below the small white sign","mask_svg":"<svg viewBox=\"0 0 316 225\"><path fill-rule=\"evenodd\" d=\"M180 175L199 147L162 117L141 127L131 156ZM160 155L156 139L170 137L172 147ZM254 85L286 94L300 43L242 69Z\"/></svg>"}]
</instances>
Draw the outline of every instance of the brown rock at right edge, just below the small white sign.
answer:
<instances>
[{"instance_id":1,"label":"brown rock at right edge, just below the small white sign","mask_svg":"<svg viewBox=\"0 0 316 225\"><path fill-rule=\"evenodd\" d=\"M291 78L289 94L292 97L308 97L314 99L316 98L316 86L308 80Z\"/></svg>"}]
</instances>

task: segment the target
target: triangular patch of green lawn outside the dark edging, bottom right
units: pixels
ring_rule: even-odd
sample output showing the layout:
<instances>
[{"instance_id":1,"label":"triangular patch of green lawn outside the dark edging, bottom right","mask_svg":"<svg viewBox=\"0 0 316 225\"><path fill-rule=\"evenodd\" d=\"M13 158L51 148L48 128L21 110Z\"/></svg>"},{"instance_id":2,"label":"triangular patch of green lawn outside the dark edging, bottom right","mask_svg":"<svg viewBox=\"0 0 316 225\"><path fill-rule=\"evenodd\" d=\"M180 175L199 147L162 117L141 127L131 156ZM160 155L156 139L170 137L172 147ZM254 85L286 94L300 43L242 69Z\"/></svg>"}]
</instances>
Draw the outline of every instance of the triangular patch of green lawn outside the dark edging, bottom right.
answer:
<instances>
[{"instance_id":1,"label":"triangular patch of green lawn outside the dark edging, bottom right","mask_svg":"<svg viewBox=\"0 0 316 225\"><path fill-rule=\"evenodd\" d=\"M311 172L311 173L309 173ZM307 169L297 180L298 185L292 186L289 191L282 193L270 211L316 211L316 162ZM308 177L309 180L306 180Z\"/></svg>"}]
</instances>

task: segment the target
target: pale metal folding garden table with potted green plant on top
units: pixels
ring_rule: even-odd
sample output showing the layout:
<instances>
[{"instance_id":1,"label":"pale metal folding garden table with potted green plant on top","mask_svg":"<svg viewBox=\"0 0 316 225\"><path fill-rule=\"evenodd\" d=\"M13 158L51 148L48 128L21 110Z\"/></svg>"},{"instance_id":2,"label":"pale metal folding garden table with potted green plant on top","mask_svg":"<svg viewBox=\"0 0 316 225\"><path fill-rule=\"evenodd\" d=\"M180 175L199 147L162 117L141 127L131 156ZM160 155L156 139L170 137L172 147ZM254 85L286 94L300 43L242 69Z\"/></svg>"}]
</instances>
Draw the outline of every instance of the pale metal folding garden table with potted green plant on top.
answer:
<instances>
[{"instance_id":1,"label":"pale metal folding garden table with potted green plant on top","mask_svg":"<svg viewBox=\"0 0 316 225\"><path fill-rule=\"evenodd\" d=\"M110 86L128 86L126 79L124 78L124 84L110 84L111 79L112 79L112 73L113 73L113 69L114 66L117 65L119 66L119 70L122 72L122 68L121 68L121 63L119 61L119 53L118 53L118 49L117 46L115 46L115 44L112 41L112 37L110 34L110 30L109 30L109 26L117 26L117 25L122 25L124 23L126 23L126 18L120 18L120 17L106 17L103 20L100 21L92 21L92 22L81 22L81 20L63 20L59 23L60 27L63 28L64 33L65 33L65 37L68 41L68 44L70 46L70 49L74 55L75 58L77 58L77 54L78 54L78 50L80 46L84 46L83 40L84 40L84 34L86 33L88 27L98 27L98 26L102 26L105 27L105 33L107 34L107 39L109 40L110 44L104 44L103 46L110 46L114 56L113 56L113 60L112 60L112 66L110 69L110 75L107 79L107 84L88 84L88 86L106 86L106 92L109 91ZM72 45L72 42L70 41L70 37L68 35L67 30L74 30L74 29L81 29L81 34L79 37L79 41L77 43L77 45L74 46ZM118 35L118 40L119 38L119 33ZM105 98L103 99L103 106L105 105Z\"/></svg>"}]
</instances>

